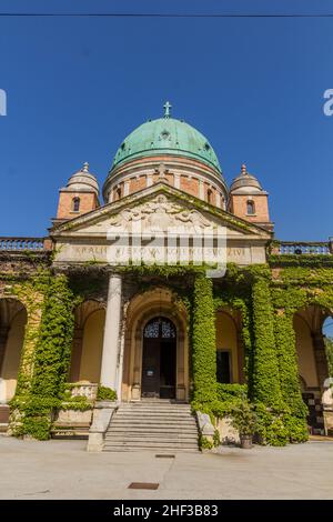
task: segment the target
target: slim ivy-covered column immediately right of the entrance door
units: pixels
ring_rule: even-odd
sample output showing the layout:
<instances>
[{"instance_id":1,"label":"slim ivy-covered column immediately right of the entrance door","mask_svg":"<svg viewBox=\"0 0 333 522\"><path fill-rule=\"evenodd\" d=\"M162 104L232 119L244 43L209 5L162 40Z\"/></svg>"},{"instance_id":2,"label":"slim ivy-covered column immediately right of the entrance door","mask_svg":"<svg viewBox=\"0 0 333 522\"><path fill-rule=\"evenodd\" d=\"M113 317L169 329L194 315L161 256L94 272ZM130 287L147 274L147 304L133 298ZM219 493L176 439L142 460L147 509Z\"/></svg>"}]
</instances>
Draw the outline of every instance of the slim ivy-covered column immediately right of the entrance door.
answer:
<instances>
[{"instance_id":1,"label":"slim ivy-covered column immediately right of the entrance door","mask_svg":"<svg viewBox=\"0 0 333 522\"><path fill-rule=\"evenodd\" d=\"M216 400L216 341L213 283L204 274L194 281L193 292L193 380L195 401Z\"/></svg>"}]
</instances>

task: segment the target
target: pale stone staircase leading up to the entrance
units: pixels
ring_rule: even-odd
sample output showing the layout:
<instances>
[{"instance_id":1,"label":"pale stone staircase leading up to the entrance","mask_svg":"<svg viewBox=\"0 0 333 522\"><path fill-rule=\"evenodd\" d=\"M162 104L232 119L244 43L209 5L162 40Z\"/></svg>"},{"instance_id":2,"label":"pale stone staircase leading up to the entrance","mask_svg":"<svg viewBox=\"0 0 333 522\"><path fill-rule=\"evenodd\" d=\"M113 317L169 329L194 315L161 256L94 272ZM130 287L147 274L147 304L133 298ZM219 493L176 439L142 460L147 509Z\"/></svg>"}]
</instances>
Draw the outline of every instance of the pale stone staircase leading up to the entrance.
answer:
<instances>
[{"instance_id":1,"label":"pale stone staircase leading up to the entrance","mask_svg":"<svg viewBox=\"0 0 333 522\"><path fill-rule=\"evenodd\" d=\"M122 403L111 419L103 451L196 452L195 418L183 403Z\"/></svg>"}]
</instances>

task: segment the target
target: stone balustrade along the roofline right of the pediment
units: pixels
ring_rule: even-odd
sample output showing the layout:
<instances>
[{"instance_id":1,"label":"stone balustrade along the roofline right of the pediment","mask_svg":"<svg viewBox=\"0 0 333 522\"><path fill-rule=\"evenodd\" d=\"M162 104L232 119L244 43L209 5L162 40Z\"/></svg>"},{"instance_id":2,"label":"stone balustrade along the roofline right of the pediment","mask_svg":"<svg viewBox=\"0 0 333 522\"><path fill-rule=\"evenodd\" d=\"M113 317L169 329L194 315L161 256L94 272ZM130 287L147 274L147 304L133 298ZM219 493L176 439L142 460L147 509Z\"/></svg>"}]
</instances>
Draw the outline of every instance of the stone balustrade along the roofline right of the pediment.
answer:
<instances>
[{"instance_id":1,"label":"stone balustrade along the roofline right of the pediment","mask_svg":"<svg viewBox=\"0 0 333 522\"><path fill-rule=\"evenodd\" d=\"M274 241L271 253L275 255L333 255L333 238L330 238L330 241Z\"/></svg>"}]
</instances>

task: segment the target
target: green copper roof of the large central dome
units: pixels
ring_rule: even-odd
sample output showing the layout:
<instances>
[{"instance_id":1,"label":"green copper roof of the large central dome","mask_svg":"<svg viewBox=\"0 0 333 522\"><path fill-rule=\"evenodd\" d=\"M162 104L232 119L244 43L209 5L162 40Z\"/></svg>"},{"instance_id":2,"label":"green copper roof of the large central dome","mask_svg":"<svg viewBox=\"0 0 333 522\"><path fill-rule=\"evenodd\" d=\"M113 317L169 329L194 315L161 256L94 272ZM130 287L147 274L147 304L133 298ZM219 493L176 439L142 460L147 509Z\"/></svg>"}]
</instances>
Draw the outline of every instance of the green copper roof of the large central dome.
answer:
<instances>
[{"instance_id":1,"label":"green copper roof of the large central dome","mask_svg":"<svg viewBox=\"0 0 333 522\"><path fill-rule=\"evenodd\" d=\"M147 121L122 142L112 169L135 158L173 154L200 160L221 172L216 154L208 139L182 120L164 117Z\"/></svg>"}]
</instances>

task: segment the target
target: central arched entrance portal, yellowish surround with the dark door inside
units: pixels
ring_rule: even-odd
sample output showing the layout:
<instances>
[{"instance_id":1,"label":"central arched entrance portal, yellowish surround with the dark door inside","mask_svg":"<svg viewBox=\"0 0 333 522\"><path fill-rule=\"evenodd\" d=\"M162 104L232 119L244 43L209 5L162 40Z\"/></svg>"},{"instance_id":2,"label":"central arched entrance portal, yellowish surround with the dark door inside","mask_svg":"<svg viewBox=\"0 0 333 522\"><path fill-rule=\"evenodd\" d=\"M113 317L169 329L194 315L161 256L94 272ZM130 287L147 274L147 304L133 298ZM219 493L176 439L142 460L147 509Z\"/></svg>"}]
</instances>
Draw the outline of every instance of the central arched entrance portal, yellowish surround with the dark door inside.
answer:
<instances>
[{"instance_id":1,"label":"central arched entrance portal, yellowish surround with the dark door inside","mask_svg":"<svg viewBox=\"0 0 333 522\"><path fill-rule=\"evenodd\" d=\"M163 340L162 331L160 337L159 329L163 324L164 335L165 329L171 329L169 334L172 335L172 331L174 338ZM148 338L153 329L159 337ZM122 401L140 401L144 396L189 400L188 317L184 305L175 303L169 289L157 288L132 298L127 309L123 353ZM151 371L153 374L147 374ZM155 382L150 389L149 382L153 379Z\"/></svg>"}]
</instances>

